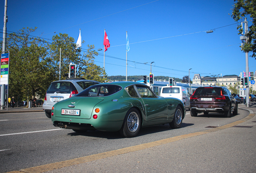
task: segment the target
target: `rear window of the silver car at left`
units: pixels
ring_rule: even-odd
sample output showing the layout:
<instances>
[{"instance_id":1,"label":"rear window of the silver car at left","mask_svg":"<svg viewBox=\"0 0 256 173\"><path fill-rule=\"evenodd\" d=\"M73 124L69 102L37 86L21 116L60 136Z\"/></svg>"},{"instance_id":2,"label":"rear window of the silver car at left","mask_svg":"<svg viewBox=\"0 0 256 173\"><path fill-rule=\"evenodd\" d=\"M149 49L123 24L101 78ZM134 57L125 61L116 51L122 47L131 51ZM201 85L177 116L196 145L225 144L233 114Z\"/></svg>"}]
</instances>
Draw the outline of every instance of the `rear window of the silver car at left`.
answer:
<instances>
[{"instance_id":1,"label":"rear window of the silver car at left","mask_svg":"<svg viewBox=\"0 0 256 173\"><path fill-rule=\"evenodd\" d=\"M52 82L47 90L47 94L52 93L71 93L76 90L72 82Z\"/></svg>"}]
</instances>

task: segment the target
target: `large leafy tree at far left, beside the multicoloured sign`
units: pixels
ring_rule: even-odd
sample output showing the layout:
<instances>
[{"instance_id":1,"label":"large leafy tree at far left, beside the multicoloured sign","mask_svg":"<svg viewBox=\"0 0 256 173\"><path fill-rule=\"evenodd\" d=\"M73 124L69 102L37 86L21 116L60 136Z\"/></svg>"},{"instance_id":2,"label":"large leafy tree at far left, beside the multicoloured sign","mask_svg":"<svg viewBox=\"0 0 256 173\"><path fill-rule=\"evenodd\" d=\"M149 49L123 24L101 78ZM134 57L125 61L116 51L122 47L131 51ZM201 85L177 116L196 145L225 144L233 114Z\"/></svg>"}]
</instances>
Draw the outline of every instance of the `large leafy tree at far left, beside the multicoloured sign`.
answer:
<instances>
[{"instance_id":1,"label":"large leafy tree at far left, beside the multicoloured sign","mask_svg":"<svg viewBox=\"0 0 256 173\"><path fill-rule=\"evenodd\" d=\"M36 28L23 28L17 33L9 34L6 50L10 52L9 60L9 95L16 99L31 98L45 94L51 81L47 68L46 48L40 38L29 35ZM47 75L48 74L48 75Z\"/></svg>"}]
</instances>

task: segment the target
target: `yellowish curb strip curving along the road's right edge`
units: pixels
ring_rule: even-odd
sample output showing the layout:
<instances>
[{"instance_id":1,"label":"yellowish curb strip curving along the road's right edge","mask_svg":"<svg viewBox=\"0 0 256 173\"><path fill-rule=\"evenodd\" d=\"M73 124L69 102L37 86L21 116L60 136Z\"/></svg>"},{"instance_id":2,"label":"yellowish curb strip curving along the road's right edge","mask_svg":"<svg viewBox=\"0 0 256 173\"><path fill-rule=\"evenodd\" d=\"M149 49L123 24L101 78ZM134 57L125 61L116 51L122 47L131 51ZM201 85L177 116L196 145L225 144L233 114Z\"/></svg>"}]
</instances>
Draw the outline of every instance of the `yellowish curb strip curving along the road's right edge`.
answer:
<instances>
[{"instance_id":1,"label":"yellowish curb strip curving along the road's right edge","mask_svg":"<svg viewBox=\"0 0 256 173\"><path fill-rule=\"evenodd\" d=\"M163 145L163 144L166 144L166 143L171 143L171 142L178 141L178 140L181 140L181 139L186 139L186 138L190 138L190 137L194 137L194 136L198 136L198 135L203 135L203 134L206 134L206 133L212 133L212 132L215 132L215 131L227 129L229 127L233 127L235 125L238 125L240 123L248 121L249 119L254 117L254 115L255 114L250 114L247 117L245 117L245 118L243 118L239 121L235 121L233 123L223 125L221 127L217 127L217 128L214 128L214 129L209 129L209 130L206 130L206 131L202 131L202 132L195 132L195 133L190 133L190 134L187 134L187 135L180 135L180 136L177 136L177 137L171 137L171 138L162 139L162 140L159 140L159 141L154 141L154 142L150 142L150 143L135 145L135 146L126 147L126 148L123 148L123 149L117 149L117 150L114 150L114 151L107 151L107 152L99 153L99 154L95 154L95 155L89 155L89 156L80 157L80 158L76 158L76 159L70 159L70 160L67 160L67 161L49 163L49 164L46 164L46 165L21 169L20 171L12 171L12 172L9 172L9 173L21 173L21 172L25 172L25 173L43 173L43 172L46 172L46 171L61 169L63 167L68 167L68 166L72 166L72 165L76 165L76 164L86 163L86 162L95 161L95 160L98 160L98 159L104 159L104 158L107 158L107 157L112 157L112 156L126 154L126 153L130 153L130 152L134 152L134 151L139 151L139 150L142 150L142 149L147 149L147 148Z\"/></svg>"}]
</instances>

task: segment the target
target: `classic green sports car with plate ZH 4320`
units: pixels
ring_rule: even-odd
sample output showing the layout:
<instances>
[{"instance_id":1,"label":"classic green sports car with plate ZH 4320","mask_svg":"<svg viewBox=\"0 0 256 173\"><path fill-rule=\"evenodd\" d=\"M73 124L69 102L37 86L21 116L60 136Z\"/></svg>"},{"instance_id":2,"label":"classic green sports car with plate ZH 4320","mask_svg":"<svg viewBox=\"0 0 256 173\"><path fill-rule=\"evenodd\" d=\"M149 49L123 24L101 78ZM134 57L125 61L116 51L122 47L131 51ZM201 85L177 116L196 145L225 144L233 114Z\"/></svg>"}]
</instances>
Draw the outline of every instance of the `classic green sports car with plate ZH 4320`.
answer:
<instances>
[{"instance_id":1,"label":"classic green sports car with plate ZH 4320","mask_svg":"<svg viewBox=\"0 0 256 173\"><path fill-rule=\"evenodd\" d=\"M77 133L96 129L134 137L140 127L169 123L173 129L180 128L185 114L182 101L158 97L145 84L109 82L92 85L56 103L52 122L55 127Z\"/></svg>"}]
</instances>

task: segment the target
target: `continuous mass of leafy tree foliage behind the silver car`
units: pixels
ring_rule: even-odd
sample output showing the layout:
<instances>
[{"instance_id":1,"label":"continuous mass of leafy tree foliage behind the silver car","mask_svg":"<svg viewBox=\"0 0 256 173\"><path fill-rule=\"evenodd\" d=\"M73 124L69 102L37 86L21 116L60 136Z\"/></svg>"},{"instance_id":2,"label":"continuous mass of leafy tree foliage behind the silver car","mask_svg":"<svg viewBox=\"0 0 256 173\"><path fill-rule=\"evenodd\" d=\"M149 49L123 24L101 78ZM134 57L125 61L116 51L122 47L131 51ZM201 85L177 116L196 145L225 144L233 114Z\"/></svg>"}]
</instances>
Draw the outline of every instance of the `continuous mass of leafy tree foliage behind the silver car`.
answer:
<instances>
[{"instance_id":1,"label":"continuous mass of leafy tree foliage behind the silver car","mask_svg":"<svg viewBox=\"0 0 256 173\"><path fill-rule=\"evenodd\" d=\"M31 33L37 28L23 28L17 33L8 34L6 50L9 58L9 96L29 99L35 95L44 98L50 83L59 80L61 57L61 80L66 79L70 62L77 65L78 77L105 81L107 74L100 66L94 64L97 52L93 45L88 49L76 50L74 38L68 34L57 34L52 37L52 43L40 37L33 38ZM84 42L84 41L83 41ZM61 56L60 56L61 48ZM105 78L103 78L103 76Z\"/></svg>"}]
</instances>

